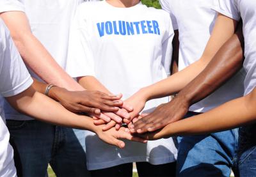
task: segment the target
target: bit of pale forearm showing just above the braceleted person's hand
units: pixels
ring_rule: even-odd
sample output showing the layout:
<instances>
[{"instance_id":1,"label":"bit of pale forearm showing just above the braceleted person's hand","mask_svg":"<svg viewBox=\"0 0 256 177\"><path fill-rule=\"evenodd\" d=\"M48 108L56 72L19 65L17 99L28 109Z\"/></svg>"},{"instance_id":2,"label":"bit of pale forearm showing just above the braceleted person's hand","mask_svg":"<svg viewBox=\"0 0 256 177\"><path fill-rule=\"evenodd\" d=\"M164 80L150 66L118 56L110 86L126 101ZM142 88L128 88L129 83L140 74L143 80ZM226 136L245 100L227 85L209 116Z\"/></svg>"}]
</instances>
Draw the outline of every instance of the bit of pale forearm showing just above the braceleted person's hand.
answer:
<instances>
[{"instance_id":1,"label":"bit of pale forearm showing just above the braceleted person's hand","mask_svg":"<svg viewBox=\"0 0 256 177\"><path fill-rule=\"evenodd\" d=\"M83 88L88 89L88 90L97 90L97 91L102 91L104 93L110 93L110 91L103 86L95 77L93 76L84 76L84 77L79 77L78 82Z\"/></svg>"}]
</instances>

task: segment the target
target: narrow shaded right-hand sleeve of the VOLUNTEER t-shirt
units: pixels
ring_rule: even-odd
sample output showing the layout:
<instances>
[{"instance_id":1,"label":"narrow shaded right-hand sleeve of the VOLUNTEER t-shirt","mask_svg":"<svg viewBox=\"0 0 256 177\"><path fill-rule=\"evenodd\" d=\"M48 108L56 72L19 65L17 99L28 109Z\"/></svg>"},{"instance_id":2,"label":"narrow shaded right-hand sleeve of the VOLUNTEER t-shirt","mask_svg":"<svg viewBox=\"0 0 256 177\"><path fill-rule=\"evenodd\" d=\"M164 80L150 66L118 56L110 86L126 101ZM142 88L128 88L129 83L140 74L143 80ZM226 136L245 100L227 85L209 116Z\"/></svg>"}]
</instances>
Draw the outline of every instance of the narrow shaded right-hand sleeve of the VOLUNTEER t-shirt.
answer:
<instances>
[{"instance_id":1,"label":"narrow shaded right-hand sleeve of the VOLUNTEER t-shirt","mask_svg":"<svg viewBox=\"0 0 256 177\"><path fill-rule=\"evenodd\" d=\"M171 19L168 18L166 27L166 38L162 43L162 64L167 75L170 75L170 66L172 63L172 40L174 36Z\"/></svg>"}]
</instances>

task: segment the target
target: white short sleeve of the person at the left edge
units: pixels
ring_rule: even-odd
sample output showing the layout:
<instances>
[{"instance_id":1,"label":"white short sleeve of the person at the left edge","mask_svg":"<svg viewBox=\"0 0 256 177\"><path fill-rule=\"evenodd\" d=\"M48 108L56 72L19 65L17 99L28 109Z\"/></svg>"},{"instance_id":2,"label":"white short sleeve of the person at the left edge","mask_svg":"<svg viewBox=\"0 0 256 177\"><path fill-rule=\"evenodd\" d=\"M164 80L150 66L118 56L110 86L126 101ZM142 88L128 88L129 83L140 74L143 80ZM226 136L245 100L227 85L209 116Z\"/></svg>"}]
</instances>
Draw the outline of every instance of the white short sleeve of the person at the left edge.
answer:
<instances>
[{"instance_id":1,"label":"white short sleeve of the person at the left edge","mask_svg":"<svg viewBox=\"0 0 256 177\"><path fill-rule=\"evenodd\" d=\"M16 49L10 33L0 20L0 94L4 97L21 93L33 83L33 79Z\"/></svg>"}]
</instances>

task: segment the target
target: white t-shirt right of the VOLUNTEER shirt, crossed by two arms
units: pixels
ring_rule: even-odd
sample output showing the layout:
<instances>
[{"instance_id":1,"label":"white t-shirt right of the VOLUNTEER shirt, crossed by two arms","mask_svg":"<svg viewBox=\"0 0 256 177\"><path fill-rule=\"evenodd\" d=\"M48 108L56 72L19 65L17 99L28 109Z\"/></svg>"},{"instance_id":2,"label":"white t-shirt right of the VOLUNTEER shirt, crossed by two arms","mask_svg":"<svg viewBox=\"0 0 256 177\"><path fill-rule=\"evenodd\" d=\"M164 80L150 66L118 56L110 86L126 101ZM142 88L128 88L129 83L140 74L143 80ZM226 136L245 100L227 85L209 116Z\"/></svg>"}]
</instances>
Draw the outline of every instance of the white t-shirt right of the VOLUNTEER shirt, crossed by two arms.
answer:
<instances>
[{"instance_id":1,"label":"white t-shirt right of the VOLUNTEER shirt, crossed by two arms","mask_svg":"<svg viewBox=\"0 0 256 177\"><path fill-rule=\"evenodd\" d=\"M214 27L217 13L212 8L218 4L217 1L160 0L163 10L170 13L173 29L179 29L179 70L183 70L202 56ZM245 75L244 70L241 70L207 98L191 105L189 111L207 112L243 96Z\"/></svg>"}]
</instances>

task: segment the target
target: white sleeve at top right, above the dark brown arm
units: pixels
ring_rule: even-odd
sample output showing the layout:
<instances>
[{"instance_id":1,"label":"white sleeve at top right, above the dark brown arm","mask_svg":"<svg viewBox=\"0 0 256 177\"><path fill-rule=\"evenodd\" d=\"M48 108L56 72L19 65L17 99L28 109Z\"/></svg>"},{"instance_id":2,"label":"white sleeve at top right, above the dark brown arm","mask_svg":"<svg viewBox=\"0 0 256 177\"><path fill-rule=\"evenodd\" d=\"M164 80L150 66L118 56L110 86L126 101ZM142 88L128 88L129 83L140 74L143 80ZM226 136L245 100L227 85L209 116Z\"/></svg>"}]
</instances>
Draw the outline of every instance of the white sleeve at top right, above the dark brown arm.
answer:
<instances>
[{"instance_id":1,"label":"white sleeve at top right, above the dark brown arm","mask_svg":"<svg viewBox=\"0 0 256 177\"><path fill-rule=\"evenodd\" d=\"M237 9L237 4L234 0L218 0L218 4L212 7L212 9L237 21L241 18L240 12Z\"/></svg>"}]
</instances>

